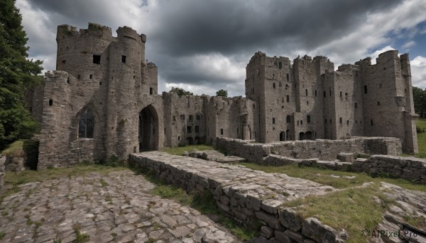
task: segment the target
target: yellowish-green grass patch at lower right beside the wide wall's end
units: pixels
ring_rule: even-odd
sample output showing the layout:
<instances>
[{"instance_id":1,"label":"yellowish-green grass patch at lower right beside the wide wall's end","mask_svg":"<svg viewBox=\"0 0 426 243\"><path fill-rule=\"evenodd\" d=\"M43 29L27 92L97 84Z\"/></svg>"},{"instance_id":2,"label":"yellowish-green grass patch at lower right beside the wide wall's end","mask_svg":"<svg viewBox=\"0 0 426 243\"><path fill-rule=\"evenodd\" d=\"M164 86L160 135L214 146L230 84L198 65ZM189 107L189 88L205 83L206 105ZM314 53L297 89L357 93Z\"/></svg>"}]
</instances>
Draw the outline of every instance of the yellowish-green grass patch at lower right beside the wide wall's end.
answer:
<instances>
[{"instance_id":1,"label":"yellowish-green grass patch at lower right beside the wide wall's end","mask_svg":"<svg viewBox=\"0 0 426 243\"><path fill-rule=\"evenodd\" d=\"M376 203L373 196L383 203ZM316 217L325 225L349 233L347 242L365 242L361 231L374 229L383 220L383 213L392 200L383 196L378 183L364 188L349 188L326 196L307 196L283 204L283 207L296 207L302 218Z\"/></svg>"}]
</instances>

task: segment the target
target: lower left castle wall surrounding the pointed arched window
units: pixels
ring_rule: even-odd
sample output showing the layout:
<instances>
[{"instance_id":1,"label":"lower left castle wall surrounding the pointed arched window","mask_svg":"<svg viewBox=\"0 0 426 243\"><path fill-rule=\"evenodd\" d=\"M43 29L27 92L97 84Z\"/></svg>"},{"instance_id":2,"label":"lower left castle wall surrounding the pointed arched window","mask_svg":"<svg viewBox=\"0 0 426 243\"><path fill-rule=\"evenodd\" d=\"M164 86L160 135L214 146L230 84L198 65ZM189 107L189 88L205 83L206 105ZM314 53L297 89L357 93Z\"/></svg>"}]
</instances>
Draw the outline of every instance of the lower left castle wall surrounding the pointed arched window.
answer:
<instances>
[{"instance_id":1,"label":"lower left castle wall surrounding the pointed arched window","mask_svg":"<svg viewBox=\"0 0 426 243\"><path fill-rule=\"evenodd\" d=\"M97 102L97 85L79 85L66 72L45 74L42 129L38 168L70 166L84 160L104 158L104 116L102 104ZM75 98L77 94L77 98ZM79 115L89 108L94 115L94 137L78 138Z\"/></svg>"}]
</instances>

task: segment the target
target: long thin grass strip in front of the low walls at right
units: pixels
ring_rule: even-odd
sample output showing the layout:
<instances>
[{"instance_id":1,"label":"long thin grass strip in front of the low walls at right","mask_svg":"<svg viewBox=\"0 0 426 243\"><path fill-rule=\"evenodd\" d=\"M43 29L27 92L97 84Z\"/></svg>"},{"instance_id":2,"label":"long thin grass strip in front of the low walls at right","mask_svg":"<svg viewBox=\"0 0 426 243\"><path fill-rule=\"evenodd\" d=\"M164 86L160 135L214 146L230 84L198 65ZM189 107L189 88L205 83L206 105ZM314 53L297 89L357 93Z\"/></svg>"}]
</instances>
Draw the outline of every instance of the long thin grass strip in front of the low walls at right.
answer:
<instances>
[{"instance_id":1,"label":"long thin grass strip in front of the low walls at right","mask_svg":"<svg viewBox=\"0 0 426 243\"><path fill-rule=\"evenodd\" d=\"M425 191L426 185L420 183L414 183L407 181L405 179L392 179L387 177L371 177L366 173L356 173L348 171L333 171L329 169L321 169L318 167L299 167L297 164L289 164L285 166L265 166L252 163L240 163L250 169L265 171L268 173L283 173L288 176L307 179L310 181L315 181L327 186L333 186L334 188L350 188L354 186L361 186L366 182L379 182L384 181L387 183L393 183L402 188L415 190L415 191ZM332 177L334 174L340 176L339 178ZM355 176L354 179L346 179L343 176Z\"/></svg>"}]
</instances>

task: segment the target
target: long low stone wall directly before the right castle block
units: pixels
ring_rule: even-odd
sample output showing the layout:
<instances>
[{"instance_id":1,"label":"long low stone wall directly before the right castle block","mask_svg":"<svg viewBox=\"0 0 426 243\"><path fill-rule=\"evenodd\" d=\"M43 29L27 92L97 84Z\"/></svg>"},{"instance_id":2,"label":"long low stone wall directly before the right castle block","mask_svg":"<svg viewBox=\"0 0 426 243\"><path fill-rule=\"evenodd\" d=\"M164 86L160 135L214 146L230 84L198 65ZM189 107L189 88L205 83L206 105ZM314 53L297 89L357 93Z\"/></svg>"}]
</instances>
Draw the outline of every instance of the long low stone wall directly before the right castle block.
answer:
<instances>
[{"instance_id":1,"label":"long low stone wall directly before the right castle block","mask_svg":"<svg viewBox=\"0 0 426 243\"><path fill-rule=\"evenodd\" d=\"M354 137L348 140L302 140L268 144L218 137L216 147L257 164L264 164L263 159L270 154L295 159L333 160L342 152L389 155L402 153L400 140L394 137Z\"/></svg>"}]
</instances>

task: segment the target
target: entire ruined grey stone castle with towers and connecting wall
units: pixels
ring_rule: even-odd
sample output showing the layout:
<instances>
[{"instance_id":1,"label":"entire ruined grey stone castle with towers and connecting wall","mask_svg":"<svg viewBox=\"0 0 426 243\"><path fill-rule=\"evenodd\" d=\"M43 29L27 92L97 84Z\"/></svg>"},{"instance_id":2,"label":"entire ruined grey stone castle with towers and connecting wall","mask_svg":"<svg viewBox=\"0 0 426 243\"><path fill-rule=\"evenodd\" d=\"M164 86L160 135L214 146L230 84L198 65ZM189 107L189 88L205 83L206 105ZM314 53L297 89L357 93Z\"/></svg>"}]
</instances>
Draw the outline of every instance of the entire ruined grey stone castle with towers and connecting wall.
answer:
<instances>
[{"instance_id":1,"label":"entire ruined grey stone castle with towers and connecting wall","mask_svg":"<svg viewBox=\"0 0 426 243\"><path fill-rule=\"evenodd\" d=\"M38 168L207 143L396 137L417 152L408 54L334 70L327 57L267 57L246 67L246 98L158 94L146 35L89 23L58 26L56 71L27 94L42 130ZM287 142L288 143L288 142Z\"/></svg>"}]
</instances>

